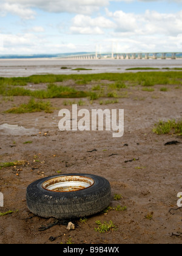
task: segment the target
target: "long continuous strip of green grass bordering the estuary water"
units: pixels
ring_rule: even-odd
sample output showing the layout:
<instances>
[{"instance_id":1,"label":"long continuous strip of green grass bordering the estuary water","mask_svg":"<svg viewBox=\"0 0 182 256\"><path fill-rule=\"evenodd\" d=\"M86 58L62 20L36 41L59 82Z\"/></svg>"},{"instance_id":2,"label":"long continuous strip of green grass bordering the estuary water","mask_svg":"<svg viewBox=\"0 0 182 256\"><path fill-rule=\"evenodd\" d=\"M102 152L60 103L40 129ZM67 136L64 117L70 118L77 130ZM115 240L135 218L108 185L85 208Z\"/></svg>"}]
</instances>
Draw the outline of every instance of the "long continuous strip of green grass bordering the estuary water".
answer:
<instances>
[{"instance_id":1,"label":"long continuous strip of green grass bordering the estuary water","mask_svg":"<svg viewBox=\"0 0 182 256\"><path fill-rule=\"evenodd\" d=\"M87 70L87 69L85 69ZM53 84L56 82L63 82L64 80L86 80L86 81L100 81L100 80L109 80L112 82L142 82L142 80L153 79L153 81L158 84L158 81L163 82L164 79L182 79L182 72L179 71L153 71L153 72L138 72L138 73L102 73L102 74L70 74L70 75L55 75L55 74L46 74L46 75L34 75L30 77L15 77L15 78L4 78L0 77L0 87L1 85L26 85L31 84Z\"/></svg>"}]
</instances>

